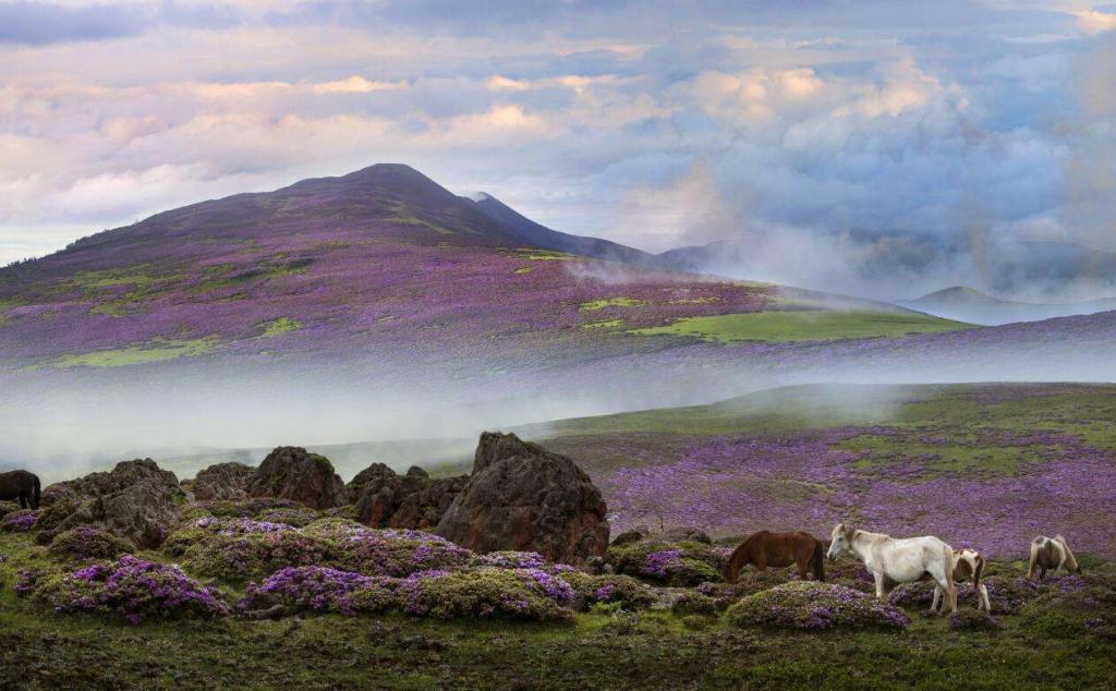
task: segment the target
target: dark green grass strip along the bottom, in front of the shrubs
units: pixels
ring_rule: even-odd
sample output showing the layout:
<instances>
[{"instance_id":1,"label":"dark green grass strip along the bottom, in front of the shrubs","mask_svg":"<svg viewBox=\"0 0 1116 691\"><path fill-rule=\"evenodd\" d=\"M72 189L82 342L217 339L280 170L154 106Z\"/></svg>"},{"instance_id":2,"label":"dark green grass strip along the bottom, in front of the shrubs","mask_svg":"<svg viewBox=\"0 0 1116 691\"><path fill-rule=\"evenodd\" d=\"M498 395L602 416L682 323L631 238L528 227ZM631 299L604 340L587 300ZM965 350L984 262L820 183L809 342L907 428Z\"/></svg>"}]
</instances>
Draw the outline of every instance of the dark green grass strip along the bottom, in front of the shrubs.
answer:
<instances>
[{"instance_id":1,"label":"dark green grass strip along the bottom, in front of the shrubs","mask_svg":"<svg viewBox=\"0 0 1116 691\"><path fill-rule=\"evenodd\" d=\"M666 611L619 634L605 614L573 626L398 616L182 622L131 627L32 608L10 587L42 558L0 535L4 688L1112 688L1113 641L1056 612L1006 616L997 633L915 617L906 633L700 631ZM145 555L148 557L157 555ZM1096 568L1096 565L1090 564Z\"/></svg>"}]
</instances>

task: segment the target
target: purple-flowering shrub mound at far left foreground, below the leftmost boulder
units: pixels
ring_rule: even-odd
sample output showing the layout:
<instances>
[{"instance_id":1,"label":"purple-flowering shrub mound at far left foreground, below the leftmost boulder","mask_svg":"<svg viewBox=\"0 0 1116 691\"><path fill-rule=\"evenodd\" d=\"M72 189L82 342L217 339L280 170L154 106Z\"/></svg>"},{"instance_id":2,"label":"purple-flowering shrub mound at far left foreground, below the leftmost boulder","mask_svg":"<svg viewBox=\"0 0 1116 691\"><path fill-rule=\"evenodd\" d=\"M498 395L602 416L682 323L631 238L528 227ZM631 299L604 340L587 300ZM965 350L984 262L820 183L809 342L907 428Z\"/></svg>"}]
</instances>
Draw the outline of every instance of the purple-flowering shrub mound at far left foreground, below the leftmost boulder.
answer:
<instances>
[{"instance_id":1,"label":"purple-flowering shrub mound at far left foreground, below the leftmost boulder","mask_svg":"<svg viewBox=\"0 0 1116 691\"><path fill-rule=\"evenodd\" d=\"M131 555L112 564L94 564L74 573L22 583L25 593L56 612L118 614L131 624L143 618L218 616L229 613L220 594L200 585L177 566Z\"/></svg>"}]
</instances>

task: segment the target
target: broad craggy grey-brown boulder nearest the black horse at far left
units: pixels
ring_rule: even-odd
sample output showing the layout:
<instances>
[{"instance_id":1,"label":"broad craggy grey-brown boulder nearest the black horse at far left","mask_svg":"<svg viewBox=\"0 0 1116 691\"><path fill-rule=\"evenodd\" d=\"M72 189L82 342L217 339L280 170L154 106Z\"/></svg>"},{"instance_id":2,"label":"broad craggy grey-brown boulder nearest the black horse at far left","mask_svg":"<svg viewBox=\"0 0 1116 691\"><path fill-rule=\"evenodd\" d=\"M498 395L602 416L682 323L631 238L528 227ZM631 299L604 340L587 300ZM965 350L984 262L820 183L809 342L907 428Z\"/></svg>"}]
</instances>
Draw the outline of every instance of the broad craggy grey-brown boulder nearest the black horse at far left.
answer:
<instances>
[{"instance_id":1,"label":"broad craggy grey-brown boulder nearest the black horse at far left","mask_svg":"<svg viewBox=\"0 0 1116 691\"><path fill-rule=\"evenodd\" d=\"M50 497L50 507L65 505L73 510L45 530L40 541L75 526L99 525L142 548L163 544L177 526L186 499L174 473L151 459L122 461L109 472L51 484L44 496Z\"/></svg>"}]
</instances>

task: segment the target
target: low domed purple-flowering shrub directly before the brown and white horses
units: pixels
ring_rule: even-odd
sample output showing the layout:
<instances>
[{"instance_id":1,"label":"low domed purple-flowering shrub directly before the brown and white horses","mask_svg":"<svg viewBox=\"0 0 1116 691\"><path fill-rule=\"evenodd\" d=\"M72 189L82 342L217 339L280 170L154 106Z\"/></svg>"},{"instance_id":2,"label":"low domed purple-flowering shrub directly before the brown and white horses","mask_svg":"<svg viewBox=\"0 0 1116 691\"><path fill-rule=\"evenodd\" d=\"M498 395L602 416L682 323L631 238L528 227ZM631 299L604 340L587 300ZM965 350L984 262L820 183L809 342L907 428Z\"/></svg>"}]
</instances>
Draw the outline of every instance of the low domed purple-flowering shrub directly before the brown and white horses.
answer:
<instances>
[{"instance_id":1,"label":"low domed purple-flowering shrub directly before the brown and white horses","mask_svg":"<svg viewBox=\"0 0 1116 691\"><path fill-rule=\"evenodd\" d=\"M841 585L795 580L749 595L729 608L738 626L822 631L834 627L906 628L898 607Z\"/></svg>"}]
</instances>

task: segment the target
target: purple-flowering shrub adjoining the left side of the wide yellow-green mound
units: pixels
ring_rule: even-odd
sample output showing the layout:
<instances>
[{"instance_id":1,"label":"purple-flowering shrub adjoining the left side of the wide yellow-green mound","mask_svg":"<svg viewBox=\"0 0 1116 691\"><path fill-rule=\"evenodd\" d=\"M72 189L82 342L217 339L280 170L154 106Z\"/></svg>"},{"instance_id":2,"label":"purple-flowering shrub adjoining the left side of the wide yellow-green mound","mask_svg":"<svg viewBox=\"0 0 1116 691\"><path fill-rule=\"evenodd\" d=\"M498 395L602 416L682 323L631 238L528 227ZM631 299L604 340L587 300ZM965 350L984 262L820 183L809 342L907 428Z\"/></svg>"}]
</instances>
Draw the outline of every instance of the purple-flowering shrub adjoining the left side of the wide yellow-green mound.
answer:
<instances>
[{"instance_id":1,"label":"purple-flowering shrub adjoining the left side of the wide yellow-green mound","mask_svg":"<svg viewBox=\"0 0 1116 691\"><path fill-rule=\"evenodd\" d=\"M248 611L282 605L288 612L383 612L395 602L388 582L325 566L287 567L259 585L249 584L237 607ZM378 606L371 608L374 604Z\"/></svg>"}]
</instances>

